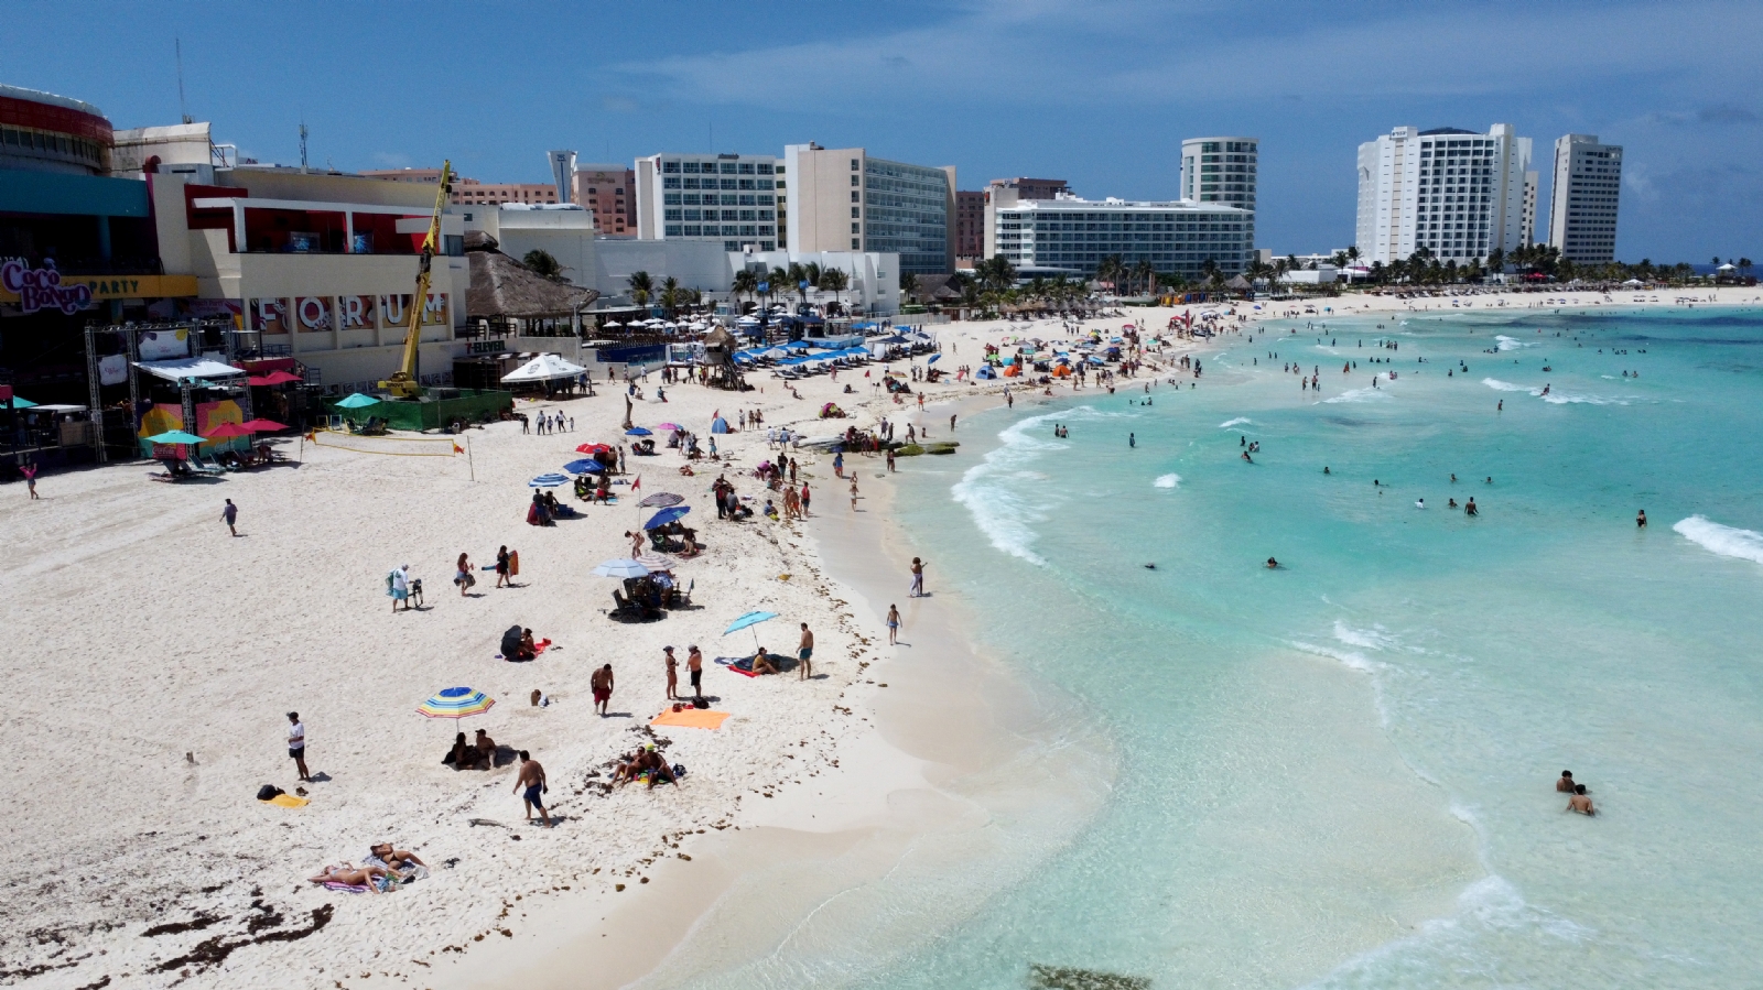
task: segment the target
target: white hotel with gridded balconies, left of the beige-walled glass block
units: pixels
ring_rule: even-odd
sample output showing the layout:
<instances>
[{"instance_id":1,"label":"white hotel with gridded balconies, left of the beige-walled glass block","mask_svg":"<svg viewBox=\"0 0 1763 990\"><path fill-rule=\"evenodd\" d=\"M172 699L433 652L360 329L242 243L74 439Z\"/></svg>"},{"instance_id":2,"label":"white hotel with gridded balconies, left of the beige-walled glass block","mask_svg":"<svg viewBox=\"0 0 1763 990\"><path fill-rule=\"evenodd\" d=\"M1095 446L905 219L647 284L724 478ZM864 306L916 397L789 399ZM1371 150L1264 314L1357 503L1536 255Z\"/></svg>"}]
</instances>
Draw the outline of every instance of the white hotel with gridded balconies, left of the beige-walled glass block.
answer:
<instances>
[{"instance_id":1,"label":"white hotel with gridded balconies, left of the beige-walled glass block","mask_svg":"<svg viewBox=\"0 0 1763 990\"><path fill-rule=\"evenodd\" d=\"M636 236L777 250L776 155L636 159Z\"/></svg>"}]
</instances>

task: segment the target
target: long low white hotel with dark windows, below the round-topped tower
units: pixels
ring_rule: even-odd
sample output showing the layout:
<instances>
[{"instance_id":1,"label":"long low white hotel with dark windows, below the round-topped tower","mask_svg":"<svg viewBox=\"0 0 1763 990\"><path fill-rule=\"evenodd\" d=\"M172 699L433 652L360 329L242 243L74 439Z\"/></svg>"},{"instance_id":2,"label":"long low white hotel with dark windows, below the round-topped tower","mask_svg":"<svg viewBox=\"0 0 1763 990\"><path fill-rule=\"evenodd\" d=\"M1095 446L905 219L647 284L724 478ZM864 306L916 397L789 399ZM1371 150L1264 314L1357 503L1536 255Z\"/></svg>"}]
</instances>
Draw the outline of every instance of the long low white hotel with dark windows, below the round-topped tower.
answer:
<instances>
[{"instance_id":1,"label":"long low white hotel with dark windows, below the round-topped tower","mask_svg":"<svg viewBox=\"0 0 1763 990\"><path fill-rule=\"evenodd\" d=\"M1012 199L986 204L987 257L1010 259L1019 275L1093 275L1102 259L1149 261L1160 273L1201 277L1208 262L1224 277L1253 259L1253 213L1216 203L1100 203Z\"/></svg>"}]
</instances>

